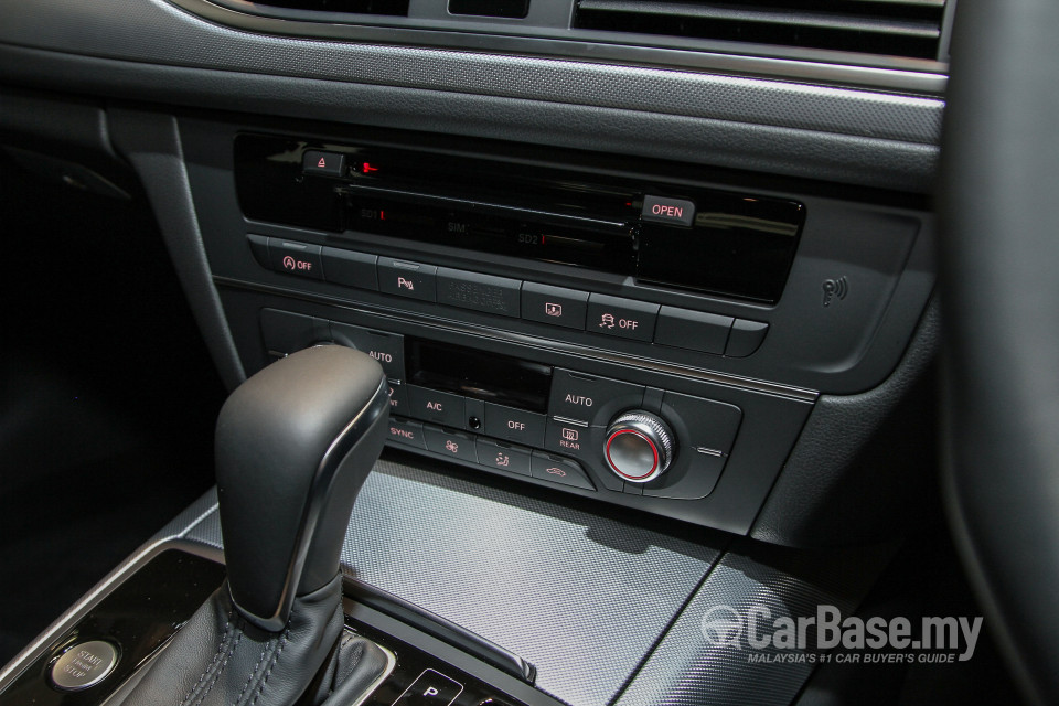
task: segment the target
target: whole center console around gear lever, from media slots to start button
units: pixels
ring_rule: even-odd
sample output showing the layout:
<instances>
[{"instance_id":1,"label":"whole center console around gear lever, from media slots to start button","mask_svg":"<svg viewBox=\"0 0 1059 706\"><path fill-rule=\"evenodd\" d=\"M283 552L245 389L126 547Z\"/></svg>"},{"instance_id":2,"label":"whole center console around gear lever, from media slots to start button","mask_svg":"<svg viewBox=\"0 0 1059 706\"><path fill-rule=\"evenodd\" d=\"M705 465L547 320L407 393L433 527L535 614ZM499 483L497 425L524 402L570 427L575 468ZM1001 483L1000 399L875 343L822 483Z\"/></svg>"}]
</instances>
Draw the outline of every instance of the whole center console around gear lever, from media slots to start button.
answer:
<instances>
[{"instance_id":1,"label":"whole center console around gear lever, from media slots to start button","mask_svg":"<svg viewBox=\"0 0 1059 706\"><path fill-rule=\"evenodd\" d=\"M748 662L710 642L709 619L848 613L888 561L738 535L814 406L898 365L933 287L929 215L878 191L630 157L173 126L195 215L183 245L201 249L243 373L349 346L385 378L389 448L330 543L346 634L392 657L364 703L795 698L811 667ZM0 673L4 697L136 688L231 580L223 514L211 492L178 517ZM186 586L158 578L178 574Z\"/></svg>"}]
</instances>

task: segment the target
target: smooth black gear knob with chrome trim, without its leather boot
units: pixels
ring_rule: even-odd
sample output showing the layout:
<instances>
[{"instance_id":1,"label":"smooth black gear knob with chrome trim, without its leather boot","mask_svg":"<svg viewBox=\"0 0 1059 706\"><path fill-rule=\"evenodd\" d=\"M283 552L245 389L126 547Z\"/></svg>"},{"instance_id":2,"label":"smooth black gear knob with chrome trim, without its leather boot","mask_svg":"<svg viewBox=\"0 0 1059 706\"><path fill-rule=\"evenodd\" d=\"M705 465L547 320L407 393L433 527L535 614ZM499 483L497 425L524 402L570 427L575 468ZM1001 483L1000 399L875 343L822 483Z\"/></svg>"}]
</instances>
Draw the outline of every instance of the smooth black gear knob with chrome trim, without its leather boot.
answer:
<instances>
[{"instance_id":1,"label":"smooth black gear knob with chrome trim, without its leather boot","mask_svg":"<svg viewBox=\"0 0 1059 706\"><path fill-rule=\"evenodd\" d=\"M383 382L364 353L311 347L250 377L221 409L225 564L236 605L258 624L281 613L296 587L297 595L313 591L338 573L350 509L382 451L385 415L361 430L366 446L336 443L367 410L378 414ZM388 414L386 399L381 404Z\"/></svg>"}]
</instances>

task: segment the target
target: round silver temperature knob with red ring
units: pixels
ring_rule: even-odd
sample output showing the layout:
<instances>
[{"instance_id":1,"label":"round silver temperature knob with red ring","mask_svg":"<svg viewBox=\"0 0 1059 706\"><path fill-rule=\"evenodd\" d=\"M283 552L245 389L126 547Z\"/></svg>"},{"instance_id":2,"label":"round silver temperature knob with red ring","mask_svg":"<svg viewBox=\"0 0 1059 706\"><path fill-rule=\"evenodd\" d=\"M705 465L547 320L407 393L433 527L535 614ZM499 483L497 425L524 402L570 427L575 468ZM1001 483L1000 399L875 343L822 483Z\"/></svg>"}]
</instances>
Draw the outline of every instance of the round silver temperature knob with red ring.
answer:
<instances>
[{"instance_id":1,"label":"round silver temperature knob with red ring","mask_svg":"<svg viewBox=\"0 0 1059 706\"><path fill-rule=\"evenodd\" d=\"M610 422L603 456L622 480L646 483L665 473L675 450L670 426L650 411L634 409Z\"/></svg>"}]
</instances>

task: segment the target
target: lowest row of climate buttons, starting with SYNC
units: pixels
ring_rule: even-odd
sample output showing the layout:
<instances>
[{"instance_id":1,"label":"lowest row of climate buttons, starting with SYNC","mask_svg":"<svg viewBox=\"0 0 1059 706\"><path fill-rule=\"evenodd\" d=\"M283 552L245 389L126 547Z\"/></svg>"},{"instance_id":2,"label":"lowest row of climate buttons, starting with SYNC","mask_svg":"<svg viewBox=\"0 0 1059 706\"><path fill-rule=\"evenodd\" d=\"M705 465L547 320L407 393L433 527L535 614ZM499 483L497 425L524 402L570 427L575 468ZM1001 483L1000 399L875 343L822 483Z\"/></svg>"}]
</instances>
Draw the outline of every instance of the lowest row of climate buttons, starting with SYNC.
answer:
<instances>
[{"instance_id":1,"label":"lowest row of climate buttons, starting with SYNC","mask_svg":"<svg viewBox=\"0 0 1059 706\"><path fill-rule=\"evenodd\" d=\"M485 468L595 491L580 464L537 449L436 427L415 419L391 417L389 439Z\"/></svg>"}]
</instances>

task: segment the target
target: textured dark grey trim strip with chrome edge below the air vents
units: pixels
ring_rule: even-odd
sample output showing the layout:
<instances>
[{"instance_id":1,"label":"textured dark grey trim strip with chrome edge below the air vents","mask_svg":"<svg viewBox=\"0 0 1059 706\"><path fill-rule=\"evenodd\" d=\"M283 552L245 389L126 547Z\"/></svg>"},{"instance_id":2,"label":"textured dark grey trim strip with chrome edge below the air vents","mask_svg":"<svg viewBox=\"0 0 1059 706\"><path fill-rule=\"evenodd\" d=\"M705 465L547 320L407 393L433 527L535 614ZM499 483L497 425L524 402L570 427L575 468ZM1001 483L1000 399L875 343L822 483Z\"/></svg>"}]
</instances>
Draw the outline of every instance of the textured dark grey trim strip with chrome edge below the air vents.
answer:
<instances>
[{"instance_id":1,"label":"textured dark grey trim strip with chrome edge below the air vents","mask_svg":"<svg viewBox=\"0 0 1059 706\"><path fill-rule=\"evenodd\" d=\"M76 6L76 8L75 8ZM75 12L76 9L76 12ZM937 143L944 103L894 94L406 46L307 41L204 22L163 0L0 0L0 41L175 66L573 103ZM77 25L78 32L67 29Z\"/></svg>"}]
</instances>

